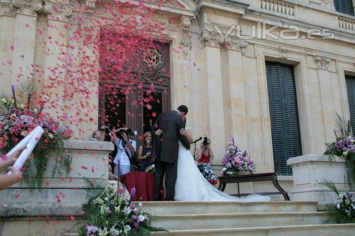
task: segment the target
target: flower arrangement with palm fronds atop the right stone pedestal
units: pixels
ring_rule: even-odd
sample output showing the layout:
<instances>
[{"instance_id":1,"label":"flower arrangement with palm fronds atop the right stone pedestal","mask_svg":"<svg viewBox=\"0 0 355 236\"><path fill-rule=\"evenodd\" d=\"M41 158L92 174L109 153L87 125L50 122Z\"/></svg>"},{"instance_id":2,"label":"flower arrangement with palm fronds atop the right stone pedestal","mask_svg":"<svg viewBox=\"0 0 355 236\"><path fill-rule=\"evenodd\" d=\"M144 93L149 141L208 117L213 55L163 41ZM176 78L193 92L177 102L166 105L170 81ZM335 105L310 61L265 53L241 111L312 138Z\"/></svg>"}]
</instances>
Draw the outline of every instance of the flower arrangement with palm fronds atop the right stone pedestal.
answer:
<instances>
[{"instance_id":1,"label":"flower arrangement with palm fronds atop the right stone pedestal","mask_svg":"<svg viewBox=\"0 0 355 236\"><path fill-rule=\"evenodd\" d=\"M335 138L331 142L325 143L324 155L335 155L346 159L348 182L352 189L355 187L355 137L349 120L335 113L334 121L336 126L336 129L334 129Z\"/></svg>"}]
</instances>

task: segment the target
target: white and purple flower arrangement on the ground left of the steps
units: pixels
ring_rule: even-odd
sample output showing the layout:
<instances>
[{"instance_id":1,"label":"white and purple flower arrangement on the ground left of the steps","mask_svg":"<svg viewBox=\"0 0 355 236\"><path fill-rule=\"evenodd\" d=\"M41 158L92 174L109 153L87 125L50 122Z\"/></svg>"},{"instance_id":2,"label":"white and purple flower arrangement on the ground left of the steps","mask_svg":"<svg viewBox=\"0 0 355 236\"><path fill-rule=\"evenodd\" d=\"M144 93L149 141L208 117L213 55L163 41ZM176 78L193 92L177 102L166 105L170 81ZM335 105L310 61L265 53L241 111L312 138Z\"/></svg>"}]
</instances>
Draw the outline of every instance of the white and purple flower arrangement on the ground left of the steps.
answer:
<instances>
[{"instance_id":1,"label":"white and purple flower arrangement on the ground left of the steps","mask_svg":"<svg viewBox=\"0 0 355 236\"><path fill-rule=\"evenodd\" d=\"M87 180L84 179L85 182ZM92 183L89 185L93 186ZM131 198L135 194L131 190ZM83 204L85 225L78 229L79 236L147 236L151 231L165 231L151 226L153 216L142 210L142 203L137 205L124 198L124 190L117 192L104 187Z\"/></svg>"}]
</instances>

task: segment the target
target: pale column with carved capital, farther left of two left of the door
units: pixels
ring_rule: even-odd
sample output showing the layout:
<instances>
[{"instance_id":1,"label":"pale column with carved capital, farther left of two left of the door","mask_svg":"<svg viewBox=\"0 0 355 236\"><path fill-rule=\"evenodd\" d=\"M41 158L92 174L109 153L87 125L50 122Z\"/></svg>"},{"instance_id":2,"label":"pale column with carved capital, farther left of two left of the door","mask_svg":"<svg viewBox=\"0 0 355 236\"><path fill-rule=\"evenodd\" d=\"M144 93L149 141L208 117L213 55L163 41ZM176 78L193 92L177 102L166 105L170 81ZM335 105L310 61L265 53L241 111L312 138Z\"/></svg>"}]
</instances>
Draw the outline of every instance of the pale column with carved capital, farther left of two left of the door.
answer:
<instances>
[{"instance_id":1,"label":"pale column with carved capital, farther left of two left of the door","mask_svg":"<svg viewBox=\"0 0 355 236\"><path fill-rule=\"evenodd\" d=\"M11 83L33 77L37 11L40 0L12 0L16 11Z\"/></svg>"}]
</instances>

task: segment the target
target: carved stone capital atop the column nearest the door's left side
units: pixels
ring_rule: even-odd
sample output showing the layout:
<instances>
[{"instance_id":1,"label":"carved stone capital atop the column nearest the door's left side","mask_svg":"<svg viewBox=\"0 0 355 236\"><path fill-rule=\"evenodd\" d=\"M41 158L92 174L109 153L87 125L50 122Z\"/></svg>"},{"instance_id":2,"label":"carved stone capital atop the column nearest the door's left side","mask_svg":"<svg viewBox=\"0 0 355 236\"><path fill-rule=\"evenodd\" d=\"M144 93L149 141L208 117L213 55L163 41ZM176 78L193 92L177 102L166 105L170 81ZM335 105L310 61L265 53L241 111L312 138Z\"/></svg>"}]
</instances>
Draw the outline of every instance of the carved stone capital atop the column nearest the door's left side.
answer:
<instances>
[{"instance_id":1,"label":"carved stone capital atop the column nearest the door's left side","mask_svg":"<svg viewBox=\"0 0 355 236\"><path fill-rule=\"evenodd\" d=\"M70 0L43 0L43 2L44 13L52 18L68 20L68 17L72 14L72 5Z\"/></svg>"}]
</instances>

